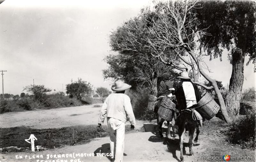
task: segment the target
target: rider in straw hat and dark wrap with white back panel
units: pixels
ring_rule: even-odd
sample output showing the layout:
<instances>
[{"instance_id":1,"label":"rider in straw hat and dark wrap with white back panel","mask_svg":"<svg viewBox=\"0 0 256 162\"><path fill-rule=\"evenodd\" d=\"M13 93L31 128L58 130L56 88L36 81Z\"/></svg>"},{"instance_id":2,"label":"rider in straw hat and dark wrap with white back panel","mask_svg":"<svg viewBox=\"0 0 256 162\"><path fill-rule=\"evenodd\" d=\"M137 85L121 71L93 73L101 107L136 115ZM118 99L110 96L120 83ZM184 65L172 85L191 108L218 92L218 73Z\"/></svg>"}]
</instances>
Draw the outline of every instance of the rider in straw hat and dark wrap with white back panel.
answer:
<instances>
[{"instance_id":1,"label":"rider in straw hat and dark wrap with white back panel","mask_svg":"<svg viewBox=\"0 0 256 162\"><path fill-rule=\"evenodd\" d=\"M198 87L196 84L191 82L191 78L188 77L187 71L181 72L180 77L177 78L180 78L181 80L175 92L179 110L181 111L187 108L194 108L196 103L201 99ZM199 121L199 125L202 126L202 116L196 110L194 110L194 113L196 115L196 119Z\"/></svg>"}]
</instances>

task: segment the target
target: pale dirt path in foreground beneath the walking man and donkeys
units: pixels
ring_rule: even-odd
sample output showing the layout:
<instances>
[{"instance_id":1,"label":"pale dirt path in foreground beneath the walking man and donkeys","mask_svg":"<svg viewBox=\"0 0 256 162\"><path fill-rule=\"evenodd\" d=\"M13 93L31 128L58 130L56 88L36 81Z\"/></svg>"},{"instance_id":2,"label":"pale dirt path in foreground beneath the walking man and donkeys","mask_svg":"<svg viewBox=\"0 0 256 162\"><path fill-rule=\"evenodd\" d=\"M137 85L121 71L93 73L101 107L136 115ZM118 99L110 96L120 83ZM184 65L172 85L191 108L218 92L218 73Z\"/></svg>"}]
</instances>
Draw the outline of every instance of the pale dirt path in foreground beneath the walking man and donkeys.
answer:
<instances>
[{"instance_id":1,"label":"pale dirt path in foreground beneath the walking man and donkeys","mask_svg":"<svg viewBox=\"0 0 256 162\"><path fill-rule=\"evenodd\" d=\"M184 140L184 147L188 153L188 138ZM205 145L205 144L204 144ZM199 154L204 151L203 144L196 144L193 147L195 154ZM94 156L90 154L94 153ZM105 153L103 156L97 156L97 153ZM37 160L52 160L51 162L57 162L61 160L68 160L69 162L79 159L79 161L110 161L109 156L109 137L96 138L92 142L77 146L68 146L56 150L47 151L35 151L32 152L22 152L22 153L10 153L2 154L0 158L8 162L36 162ZM55 158L47 159L47 155L54 156L60 155L60 158L56 156ZM67 157L68 154L68 157ZM71 157L69 157L71 154ZM79 156L78 156L79 154ZM81 155L83 154L83 155ZM84 157L84 154L86 157ZM16 159L16 155L18 155ZM35 158L33 158L35 155ZM36 155L42 155L43 158L36 158ZM98 154L99 155L99 154ZM196 156L187 156L184 154L185 161L195 161ZM20 157L22 156L22 158ZM65 157L62 157L65 156ZM82 157L83 156L83 157ZM180 151L178 139L167 139L158 138L155 134L151 132L143 133L131 133L125 135L125 149L124 149L124 161L179 161ZM31 158L31 159L29 159ZM54 160L54 161L53 161ZM47 161L50 162L50 161Z\"/></svg>"}]
</instances>

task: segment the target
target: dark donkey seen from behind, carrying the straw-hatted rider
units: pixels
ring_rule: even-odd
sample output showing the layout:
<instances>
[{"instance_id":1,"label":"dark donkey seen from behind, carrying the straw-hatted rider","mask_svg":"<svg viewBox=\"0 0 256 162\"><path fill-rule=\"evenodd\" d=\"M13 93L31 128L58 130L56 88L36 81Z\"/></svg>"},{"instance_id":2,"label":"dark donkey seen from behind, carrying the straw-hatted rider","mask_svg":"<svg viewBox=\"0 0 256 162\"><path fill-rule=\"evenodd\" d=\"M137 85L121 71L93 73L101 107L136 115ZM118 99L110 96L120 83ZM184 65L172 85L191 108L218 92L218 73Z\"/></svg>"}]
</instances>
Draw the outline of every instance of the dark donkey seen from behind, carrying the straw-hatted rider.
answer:
<instances>
[{"instance_id":1,"label":"dark donkey seen from behind, carrying the straw-hatted rider","mask_svg":"<svg viewBox=\"0 0 256 162\"><path fill-rule=\"evenodd\" d=\"M180 112L180 115L177 118L177 123L178 125L178 134L180 138L180 161L184 161L183 157L183 136L186 131L188 131L189 134L189 154L193 155L193 150L192 150L192 145L193 145L193 138L194 138L194 132L196 129L196 138L194 140L194 143L197 143L198 140L198 135L199 135L199 124L196 120L193 119L192 117L192 111L191 109L185 109Z\"/></svg>"}]
</instances>

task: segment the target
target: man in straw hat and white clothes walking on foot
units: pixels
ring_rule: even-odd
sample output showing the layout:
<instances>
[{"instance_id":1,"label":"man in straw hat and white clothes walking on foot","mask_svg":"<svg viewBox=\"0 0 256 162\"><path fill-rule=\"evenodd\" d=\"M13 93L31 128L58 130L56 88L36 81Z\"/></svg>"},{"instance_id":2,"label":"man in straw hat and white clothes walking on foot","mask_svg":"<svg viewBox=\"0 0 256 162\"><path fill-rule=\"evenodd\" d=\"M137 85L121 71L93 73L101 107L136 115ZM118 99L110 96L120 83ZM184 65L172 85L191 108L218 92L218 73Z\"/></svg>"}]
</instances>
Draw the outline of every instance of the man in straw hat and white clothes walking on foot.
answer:
<instances>
[{"instance_id":1,"label":"man in straw hat and white clothes walking on foot","mask_svg":"<svg viewBox=\"0 0 256 162\"><path fill-rule=\"evenodd\" d=\"M124 154L124 134L125 122L129 120L131 129L134 129L135 117L132 111L131 99L124 94L125 90L131 88L131 85L117 80L115 85L111 87L112 91L102 105L97 130L101 130L101 124L107 116L109 137L110 137L110 152L112 159L115 162L123 161Z\"/></svg>"}]
</instances>

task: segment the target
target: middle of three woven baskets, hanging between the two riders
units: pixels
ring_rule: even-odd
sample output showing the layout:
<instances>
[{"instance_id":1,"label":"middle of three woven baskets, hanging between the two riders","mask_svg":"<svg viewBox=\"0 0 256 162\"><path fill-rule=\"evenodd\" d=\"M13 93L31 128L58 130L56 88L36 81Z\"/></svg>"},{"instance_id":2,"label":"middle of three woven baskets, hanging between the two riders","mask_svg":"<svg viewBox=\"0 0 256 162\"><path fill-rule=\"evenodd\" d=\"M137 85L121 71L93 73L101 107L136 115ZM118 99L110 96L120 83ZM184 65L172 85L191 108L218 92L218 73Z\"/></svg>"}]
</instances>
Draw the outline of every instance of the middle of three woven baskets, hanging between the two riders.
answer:
<instances>
[{"instance_id":1,"label":"middle of three woven baskets, hanging between the two riders","mask_svg":"<svg viewBox=\"0 0 256 162\"><path fill-rule=\"evenodd\" d=\"M175 107L176 105L172 102L171 98L164 97L157 114L159 114L164 120L172 121Z\"/></svg>"}]
</instances>

